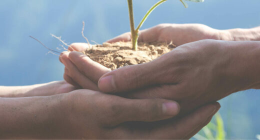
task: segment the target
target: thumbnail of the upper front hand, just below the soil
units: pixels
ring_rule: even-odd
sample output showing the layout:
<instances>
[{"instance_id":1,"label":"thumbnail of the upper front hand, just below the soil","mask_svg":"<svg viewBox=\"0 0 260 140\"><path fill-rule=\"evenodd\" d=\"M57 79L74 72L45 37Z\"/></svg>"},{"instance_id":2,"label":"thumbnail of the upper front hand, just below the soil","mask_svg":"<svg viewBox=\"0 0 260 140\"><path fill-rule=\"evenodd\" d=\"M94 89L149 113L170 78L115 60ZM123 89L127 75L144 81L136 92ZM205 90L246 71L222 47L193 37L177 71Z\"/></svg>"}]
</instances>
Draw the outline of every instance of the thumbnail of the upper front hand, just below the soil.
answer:
<instances>
[{"instance_id":1,"label":"thumbnail of the upper front hand, just below the soil","mask_svg":"<svg viewBox=\"0 0 260 140\"><path fill-rule=\"evenodd\" d=\"M104 76L98 81L98 87L105 92L112 92L115 88L115 82L112 75Z\"/></svg>"}]
</instances>

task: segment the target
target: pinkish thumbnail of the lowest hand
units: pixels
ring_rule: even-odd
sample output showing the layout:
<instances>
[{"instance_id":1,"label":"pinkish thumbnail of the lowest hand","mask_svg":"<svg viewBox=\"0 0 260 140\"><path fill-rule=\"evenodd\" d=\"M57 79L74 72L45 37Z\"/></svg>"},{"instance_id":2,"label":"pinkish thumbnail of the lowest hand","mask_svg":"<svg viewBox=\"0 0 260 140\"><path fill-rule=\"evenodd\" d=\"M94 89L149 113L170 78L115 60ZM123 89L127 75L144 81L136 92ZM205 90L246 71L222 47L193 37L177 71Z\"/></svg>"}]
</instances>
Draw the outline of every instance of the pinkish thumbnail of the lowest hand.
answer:
<instances>
[{"instance_id":1,"label":"pinkish thumbnail of the lowest hand","mask_svg":"<svg viewBox=\"0 0 260 140\"><path fill-rule=\"evenodd\" d=\"M179 105L176 102L165 102L162 104L162 112L166 115L176 115L179 112Z\"/></svg>"}]
</instances>

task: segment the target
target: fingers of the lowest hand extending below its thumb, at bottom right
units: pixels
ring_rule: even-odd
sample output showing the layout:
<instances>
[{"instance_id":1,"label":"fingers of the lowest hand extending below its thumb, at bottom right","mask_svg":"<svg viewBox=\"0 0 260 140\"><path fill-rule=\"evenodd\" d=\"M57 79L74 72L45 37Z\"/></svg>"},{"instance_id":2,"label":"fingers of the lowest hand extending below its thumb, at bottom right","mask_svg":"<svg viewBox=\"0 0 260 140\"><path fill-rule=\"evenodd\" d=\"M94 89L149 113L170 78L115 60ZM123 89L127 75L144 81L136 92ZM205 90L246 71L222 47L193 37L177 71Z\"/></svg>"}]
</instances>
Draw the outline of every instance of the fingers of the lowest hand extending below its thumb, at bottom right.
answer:
<instances>
[{"instance_id":1,"label":"fingers of the lowest hand extending below its thumb, at bottom right","mask_svg":"<svg viewBox=\"0 0 260 140\"><path fill-rule=\"evenodd\" d=\"M205 126L211 117L220 108L218 102L204 105L187 116L178 119L173 123L157 127L151 131L150 137L165 139L187 139L195 132ZM166 137L165 137L166 136Z\"/></svg>"}]
</instances>

